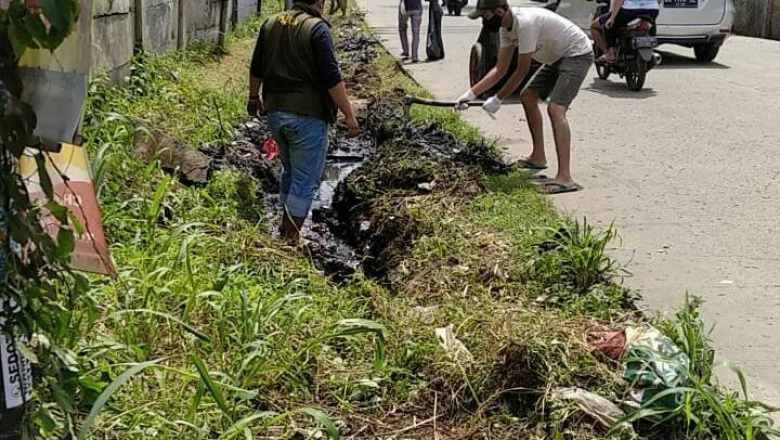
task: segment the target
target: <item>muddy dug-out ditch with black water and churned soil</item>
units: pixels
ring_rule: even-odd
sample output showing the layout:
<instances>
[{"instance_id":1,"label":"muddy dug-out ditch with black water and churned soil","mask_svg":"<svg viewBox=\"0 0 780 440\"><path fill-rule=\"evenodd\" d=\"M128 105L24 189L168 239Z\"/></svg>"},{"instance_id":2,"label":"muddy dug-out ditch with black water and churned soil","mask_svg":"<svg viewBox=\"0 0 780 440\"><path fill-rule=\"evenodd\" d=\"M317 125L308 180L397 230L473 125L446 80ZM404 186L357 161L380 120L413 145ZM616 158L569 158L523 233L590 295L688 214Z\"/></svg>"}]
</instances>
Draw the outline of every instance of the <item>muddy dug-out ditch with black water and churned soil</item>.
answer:
<instances>
[{"instance_id":1,"label":"muddy dug-out ditch with black water and churned soil","mask_svg":"<svg viewBox=\"0 0 780 440\"><path fill-rule=\"evenodd\" d=\"M311 219L301 231L315 265L343 282L362 269L379 282L426 234L410 213L420 197L457 195L468 200L485 191L486 173L509 167L484 141L462 143L440 123L415 125L403 116L403 90L378 96L371 64L378 41L364 34L360 21L340 26L339 54L345 81L357 105L361 134L346 136L341 121L330 147ZM376 89L374 89L376 90ZM268 211L278 207L281 160L268 151L272 134L265 117L240 124L230 144L206 148L217 168L232 167L260 183Z\"/></svg>"}]
</instances>

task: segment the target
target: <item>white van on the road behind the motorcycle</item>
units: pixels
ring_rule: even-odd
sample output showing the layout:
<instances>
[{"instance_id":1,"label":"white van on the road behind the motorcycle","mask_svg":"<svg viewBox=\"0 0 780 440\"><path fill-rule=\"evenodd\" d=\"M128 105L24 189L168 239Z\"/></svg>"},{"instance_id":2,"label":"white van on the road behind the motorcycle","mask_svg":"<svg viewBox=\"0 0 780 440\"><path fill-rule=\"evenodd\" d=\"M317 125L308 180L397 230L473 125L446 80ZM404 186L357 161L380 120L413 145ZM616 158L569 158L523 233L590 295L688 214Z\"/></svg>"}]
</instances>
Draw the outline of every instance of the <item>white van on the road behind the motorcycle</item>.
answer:
<instances>
[{"instance_id":1,"label":"white van on the road behind the motorcycle","mask_svg":"<svg viewBox=\"0 0 780 440\"><path fill-rule=\"evenodd\" d=\"M596 2L561 0L558 14L590 31ZM710 62L731 33L734 23L732 0L663 0L657 20L657 38L661 44L693 48L696 59Z\"/></svg>"}]
</instances>

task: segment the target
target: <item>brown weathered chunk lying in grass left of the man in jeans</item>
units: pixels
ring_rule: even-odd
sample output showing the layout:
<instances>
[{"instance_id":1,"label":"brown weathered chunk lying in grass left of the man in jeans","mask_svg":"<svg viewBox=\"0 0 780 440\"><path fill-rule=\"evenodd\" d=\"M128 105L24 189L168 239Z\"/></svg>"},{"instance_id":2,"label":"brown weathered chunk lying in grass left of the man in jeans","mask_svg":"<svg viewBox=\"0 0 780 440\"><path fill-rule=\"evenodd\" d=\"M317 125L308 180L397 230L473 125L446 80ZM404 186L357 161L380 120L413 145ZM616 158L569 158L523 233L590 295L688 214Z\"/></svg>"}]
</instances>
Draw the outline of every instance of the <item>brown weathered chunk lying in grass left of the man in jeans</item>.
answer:
<instances>
[{"instance_id":1,"label":"brown weathered chunk lying in grass left of the man in jeans","mask_svg":"<svg viewBox=\"0 0 780 440\"><path fill-rule=\"evenodd\" d=\"M165 171L179 170L179 180L184 184L202 185L211 175L208 156L156 128L136 132L133 155L144 162L158 156Z\"/></svg>"}]
</instances>

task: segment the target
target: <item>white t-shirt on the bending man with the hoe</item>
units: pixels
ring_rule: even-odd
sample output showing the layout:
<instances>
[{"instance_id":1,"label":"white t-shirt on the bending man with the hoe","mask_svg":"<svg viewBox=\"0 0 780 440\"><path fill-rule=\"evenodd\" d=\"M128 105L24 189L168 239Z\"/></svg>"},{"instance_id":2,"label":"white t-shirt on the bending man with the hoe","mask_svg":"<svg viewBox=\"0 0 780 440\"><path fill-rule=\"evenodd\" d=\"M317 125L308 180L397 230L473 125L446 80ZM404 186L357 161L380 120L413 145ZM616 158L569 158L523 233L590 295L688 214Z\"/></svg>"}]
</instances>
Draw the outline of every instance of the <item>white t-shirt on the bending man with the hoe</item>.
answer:
<instances>
[{"instance_id":1,"label":"white t-shirt on the bending man with the hoe","mask_svg":"<svg viewBox=\"0 0 780 440\"><path fill-rule=\"evenodd\" d=\"M545 8L512 8L512 28L501 27L501 47L515 46L520 53L533 53L542 64L593 52L590 40L579 26Z\"/></svg>"}]
</instances>

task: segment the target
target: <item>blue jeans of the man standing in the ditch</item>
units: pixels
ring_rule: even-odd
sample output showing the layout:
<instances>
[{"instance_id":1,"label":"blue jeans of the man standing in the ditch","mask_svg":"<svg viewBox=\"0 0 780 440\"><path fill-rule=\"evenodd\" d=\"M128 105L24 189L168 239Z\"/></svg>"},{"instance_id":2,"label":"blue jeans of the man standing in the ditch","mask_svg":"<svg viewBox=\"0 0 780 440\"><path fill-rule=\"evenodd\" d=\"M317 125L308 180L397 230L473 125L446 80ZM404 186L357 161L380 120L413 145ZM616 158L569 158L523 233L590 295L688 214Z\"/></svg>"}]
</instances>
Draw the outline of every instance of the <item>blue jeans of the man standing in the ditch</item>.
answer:
<instances>
[{"instance_id":1,"label":"blue jeans of the man standing in the ditch","mask_svg":"<svg viewBox=\"0 0 780 440\"><path fill-rule=\"evenodd\" d=\"M310 116L273 112L268 126L282 159L279 203L293 217L306 218L325 169L328 124Z\"/></svg>"}]
</instances>

